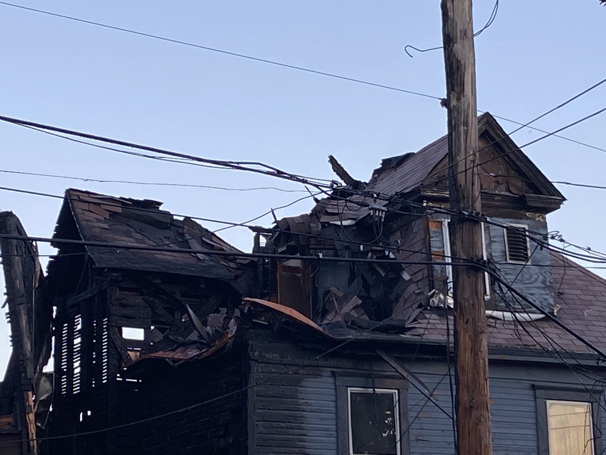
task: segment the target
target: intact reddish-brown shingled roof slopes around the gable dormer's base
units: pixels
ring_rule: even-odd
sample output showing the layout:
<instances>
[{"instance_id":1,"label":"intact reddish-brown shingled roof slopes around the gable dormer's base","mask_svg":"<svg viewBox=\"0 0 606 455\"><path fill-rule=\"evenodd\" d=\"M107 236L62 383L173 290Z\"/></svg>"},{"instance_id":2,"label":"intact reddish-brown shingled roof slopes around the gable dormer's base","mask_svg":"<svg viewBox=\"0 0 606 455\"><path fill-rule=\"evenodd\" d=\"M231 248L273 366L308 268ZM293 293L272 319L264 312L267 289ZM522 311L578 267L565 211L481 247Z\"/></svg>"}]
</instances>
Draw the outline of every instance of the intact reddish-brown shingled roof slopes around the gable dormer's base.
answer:
<instances>
[{"instance_id":1,"label":"intact reddish-brown shingled roof slopes around the gable dormer's base","mask_svg":"<svg viewBox=\"0 0 606 455\"><path fill-rule=\"evenodd\" d=\"M558 320L606 352L606 279L556 253L551 254L550 269L555 302L561 307L556 316ZM453 321L450 318L450 329L452 328ZM422 312L418 328L410 333L418 334L425 340L445 342L444 310ZM545 338L544 334L551 339ZM450 340L452 342L452 335ZM488 318L489 345L541 349L538 343L551 350L594 354L590 348L547 318L521 323Z\"/></svg>"}]
</instances>

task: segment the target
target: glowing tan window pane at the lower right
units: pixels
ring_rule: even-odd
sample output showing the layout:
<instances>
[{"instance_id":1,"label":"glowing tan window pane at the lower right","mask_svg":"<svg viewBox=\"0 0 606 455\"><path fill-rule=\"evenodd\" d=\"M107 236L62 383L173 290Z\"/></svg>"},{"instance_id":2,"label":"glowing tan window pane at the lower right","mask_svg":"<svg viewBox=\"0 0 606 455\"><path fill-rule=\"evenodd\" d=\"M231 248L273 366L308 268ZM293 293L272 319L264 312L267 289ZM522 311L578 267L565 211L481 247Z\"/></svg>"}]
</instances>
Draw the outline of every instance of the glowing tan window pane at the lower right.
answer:
<instances>
[{"instance_id":1,"label":"glowing tan window pane at the lower right","mask_svg":"<svg viewBox=\"0 0 606 455\"><path fill-rule=\"evenodd\" d=\"M550 455L593 455L591 403L546 400Z\"/></svg>"}]
</instances>

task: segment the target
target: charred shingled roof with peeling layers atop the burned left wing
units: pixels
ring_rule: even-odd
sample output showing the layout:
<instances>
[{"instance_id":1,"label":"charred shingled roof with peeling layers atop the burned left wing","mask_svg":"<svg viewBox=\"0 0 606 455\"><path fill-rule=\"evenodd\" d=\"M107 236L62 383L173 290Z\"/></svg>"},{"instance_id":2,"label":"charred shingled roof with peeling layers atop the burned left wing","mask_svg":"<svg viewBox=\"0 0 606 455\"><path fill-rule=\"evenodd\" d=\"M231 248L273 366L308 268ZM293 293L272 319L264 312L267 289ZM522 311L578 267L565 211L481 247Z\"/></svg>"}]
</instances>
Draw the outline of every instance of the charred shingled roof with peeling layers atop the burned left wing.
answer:
<instances>
[{"instance_id":1,"label":"charred shingled roof with peeling layers atop the burned left wing","mask_svg":"<svg viewBox=\"0 0 606 455\"><path fill-rule=\"evenodd\" d=\"M79 237L133 246L165 246L241 253L218 235L184 218L178 220L160 209L162 203L96 194L78 189L65 192L53 238ZM76 229L70 227L75 222ZM61 244L55 244L61 248ZM180 252L157 252L86 246L98 268L131 269L194 275L220 280L237 278L251 261Z\"/></svg>"}]
</instances>

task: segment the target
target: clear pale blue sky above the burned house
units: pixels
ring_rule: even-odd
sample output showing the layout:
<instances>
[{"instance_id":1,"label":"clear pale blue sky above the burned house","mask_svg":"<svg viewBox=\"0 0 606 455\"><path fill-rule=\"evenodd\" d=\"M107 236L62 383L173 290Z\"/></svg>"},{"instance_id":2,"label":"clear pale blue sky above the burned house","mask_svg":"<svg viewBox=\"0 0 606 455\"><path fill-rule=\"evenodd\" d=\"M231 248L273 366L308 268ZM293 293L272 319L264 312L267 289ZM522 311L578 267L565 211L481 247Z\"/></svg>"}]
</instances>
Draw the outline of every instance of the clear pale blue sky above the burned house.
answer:
<instances>
[{"instance_id":1,"label":"clear pale blue sky above the burned house","mask_svg":"<svg viewBox=\"0 0 606 455\"><path fill-rule=\"evenodd\" d=\"M17 0L15 0L17 1ZM19 4L274 59L297 66L444 95L439 1L43 2ZM476 1L476 29L492 0ZM478 107L521 122L606 77L606 8L598 0L502 1L476 39ZM0 114L98 133L208 158L258 160L333 178L332 153L362 180L381 158L415 151L445 133L438 101L268 66L0 5ZM539 121L554 130L606 107L606 84ZM606 148L606 114L564 135ZM515 125L503 122L505 130ZM525 129L524 144L540 133ZM93 149L0 124L0 169L110 180L228 187L295 184L229 170L161 163ZM549 138L524 150L551 180L606 184L606 153ZM225 192L92 183L0 173L1 186L62 194L79 187L152 198L181 214L245 221L302 194ZM569 241L606 251L606 191L560 187L568 198L548 217ZM0 191L30 235L50 237L60 201ZM279 216L307 212L303 201ZM270 224L265 217L259 224ZM212 224L207 227L215 228ZM247 229L224 237L250 251ZM41 252L53 252L41 245ZM0 285L4 286L3 277ZM0 322L0 374L10 348Z\"/></svg>"}]
</instances>

